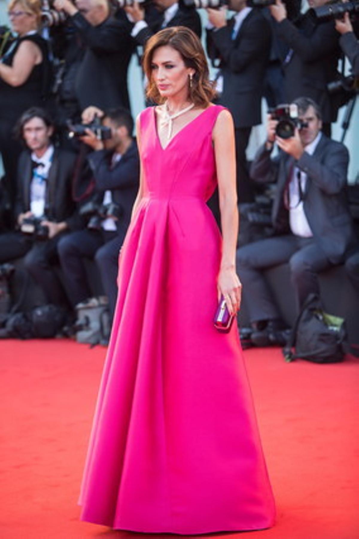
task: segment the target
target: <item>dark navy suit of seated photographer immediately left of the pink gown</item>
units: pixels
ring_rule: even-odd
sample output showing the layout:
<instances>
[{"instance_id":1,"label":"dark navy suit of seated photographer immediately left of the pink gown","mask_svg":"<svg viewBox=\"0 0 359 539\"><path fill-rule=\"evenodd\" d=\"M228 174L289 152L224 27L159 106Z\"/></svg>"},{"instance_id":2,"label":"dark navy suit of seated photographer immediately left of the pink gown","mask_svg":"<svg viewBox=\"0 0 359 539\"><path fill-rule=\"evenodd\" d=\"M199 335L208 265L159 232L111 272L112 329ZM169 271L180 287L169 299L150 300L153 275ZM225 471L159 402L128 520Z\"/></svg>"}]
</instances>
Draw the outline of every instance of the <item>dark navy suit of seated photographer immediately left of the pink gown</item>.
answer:
<instances>
[{"instance_id":1,"label":"dark navy suit of seated photographer immediately left of the pink gown","mask_svg":"<svg viewBox=\"0 0 359 539\"><path fill-rule=\"evenodd\" d=\"M65 275L68 298L73 307L89 298L91 290L83 259L94 258L101 272L104 291L109 299L111 315L114 314L117 287L118 253L131 219L139 181L139 157L136 142L115 163L110 164L112 152L94 151L88 162L95 179L94 200L102 203L104 192L111 191L112 202L122 213L116 221L117 231L81 230L68 234L59 243L59 257Z\"/></svg>"}]
</instances>

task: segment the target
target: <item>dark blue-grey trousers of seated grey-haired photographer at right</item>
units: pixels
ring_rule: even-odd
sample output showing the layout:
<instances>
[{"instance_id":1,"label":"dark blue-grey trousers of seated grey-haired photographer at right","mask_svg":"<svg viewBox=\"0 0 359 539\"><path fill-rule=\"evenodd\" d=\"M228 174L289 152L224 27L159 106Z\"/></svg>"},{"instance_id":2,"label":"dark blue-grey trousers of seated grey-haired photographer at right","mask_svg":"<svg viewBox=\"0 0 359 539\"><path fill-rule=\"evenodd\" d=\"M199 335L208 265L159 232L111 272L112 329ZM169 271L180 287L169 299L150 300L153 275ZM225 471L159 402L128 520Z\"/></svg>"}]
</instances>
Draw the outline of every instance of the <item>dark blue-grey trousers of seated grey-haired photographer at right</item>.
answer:
<instances>
[{"instance_id":1,"label":"dark blue-grey trousers of seated grey-haired photographer at right","mask_svg":"<svg viewBox=\"0 0 359 539\"><path fill-rule=\"evenodd\" d=\"M297 310L311 292L319 294L318 273L332 263L313 238L293 234L263 239L237 251L237 272L251 322L280 317L263 270L289 262Z\"/></svg>"}]
</instances>

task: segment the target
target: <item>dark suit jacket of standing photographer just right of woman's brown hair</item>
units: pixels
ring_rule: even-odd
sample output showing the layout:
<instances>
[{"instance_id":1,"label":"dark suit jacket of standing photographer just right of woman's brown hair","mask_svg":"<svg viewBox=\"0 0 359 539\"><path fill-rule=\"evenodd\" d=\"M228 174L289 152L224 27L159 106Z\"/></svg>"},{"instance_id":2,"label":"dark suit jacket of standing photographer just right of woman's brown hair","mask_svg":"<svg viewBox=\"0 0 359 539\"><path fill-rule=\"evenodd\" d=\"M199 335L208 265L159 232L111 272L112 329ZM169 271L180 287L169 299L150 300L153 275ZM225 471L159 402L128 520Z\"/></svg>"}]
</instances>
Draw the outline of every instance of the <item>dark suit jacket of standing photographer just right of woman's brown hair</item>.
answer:
<instances>
[{"instance_id":1,"label":"dark suit jacket of standing photographer just right of woman's brown hair","mask_svg":"<svg viewBox=\"0 0 359 539\"><path fill-rule=\"evenodd\" d=\"M207 31L208 56L220 59L223 93L219 103L228 107L235 127L261 123L264 76L271 49L271 29L260 10L252 9L236 39L231 39L234 19L219 30Z\"/></svg>"}]
</instances>

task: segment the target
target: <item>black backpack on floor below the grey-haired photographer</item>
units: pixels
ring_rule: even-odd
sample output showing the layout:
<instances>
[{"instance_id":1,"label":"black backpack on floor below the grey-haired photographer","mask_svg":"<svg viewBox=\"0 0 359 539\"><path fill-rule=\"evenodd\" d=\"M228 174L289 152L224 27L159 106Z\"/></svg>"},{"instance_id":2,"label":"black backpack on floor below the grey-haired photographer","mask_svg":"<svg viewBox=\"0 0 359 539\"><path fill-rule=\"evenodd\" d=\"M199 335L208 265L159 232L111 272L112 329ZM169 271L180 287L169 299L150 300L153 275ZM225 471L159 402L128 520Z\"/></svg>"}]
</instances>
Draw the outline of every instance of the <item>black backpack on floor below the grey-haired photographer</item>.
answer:
<instances>
[{"instance_id":1,"label":"black backpack on floor below the grey-haired photographer","mask_svg":"<svg viewBox=\"0 0 359 539\"><path fill-rule=\"evenodd\" d=\"M350 351L343 318L326 313L317 294L309 294L304 302L283 355L287 362L301 358L314 363L337 363Z\"/></svg>"}]
</instances>

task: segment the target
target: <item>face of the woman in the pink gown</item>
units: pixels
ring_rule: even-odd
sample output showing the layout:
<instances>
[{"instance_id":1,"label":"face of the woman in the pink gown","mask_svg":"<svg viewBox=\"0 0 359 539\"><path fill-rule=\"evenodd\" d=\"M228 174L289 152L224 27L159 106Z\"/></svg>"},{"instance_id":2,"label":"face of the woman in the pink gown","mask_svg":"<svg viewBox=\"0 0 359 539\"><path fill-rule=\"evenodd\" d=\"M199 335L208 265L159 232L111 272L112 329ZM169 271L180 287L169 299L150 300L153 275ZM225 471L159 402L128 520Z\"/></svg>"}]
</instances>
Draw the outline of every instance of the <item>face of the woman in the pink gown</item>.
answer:
<instances>
[{"instance_id":1,"label":"face of the woman in the pink gown","mask_svg":"<svg viewBox=\"0 0 359 539\"><path fill-rule=\"evenodd\" d=\"M181 54L170 45L158 47L153 53L151 74L154 84L164 98L183 94L188 97L189 75L194 74L191 67L186 67Z\"/></svg>"}]
</instances>

